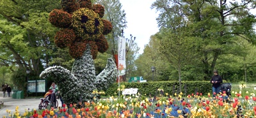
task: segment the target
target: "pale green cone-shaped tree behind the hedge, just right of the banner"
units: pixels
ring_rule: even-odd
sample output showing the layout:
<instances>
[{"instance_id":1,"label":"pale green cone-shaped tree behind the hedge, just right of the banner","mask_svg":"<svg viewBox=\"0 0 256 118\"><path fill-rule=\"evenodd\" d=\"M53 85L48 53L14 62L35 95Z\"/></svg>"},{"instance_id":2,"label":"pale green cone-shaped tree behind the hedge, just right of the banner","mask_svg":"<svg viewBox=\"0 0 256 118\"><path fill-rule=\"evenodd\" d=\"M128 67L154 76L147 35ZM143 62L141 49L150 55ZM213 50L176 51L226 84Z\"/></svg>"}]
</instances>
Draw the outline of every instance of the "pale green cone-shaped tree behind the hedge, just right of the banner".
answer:
<instances>
[{"instance_id":1,"label":"pale green cone-shaped tree behind the hedge, just right of the banner","mask_svg":"<svg viewBox=\"0 0 256 118\"><path fill-rule=\"evenodd\" d=\"M156 37L157 34L150 36L150 41L143 50L143 54L136 59L136 75L143 77L147 81L153 80L151 67L156 67L154 72L154 80L170 80L170 64L163 59L160 52L160 40Z\"/></svg>"}]
</instances>

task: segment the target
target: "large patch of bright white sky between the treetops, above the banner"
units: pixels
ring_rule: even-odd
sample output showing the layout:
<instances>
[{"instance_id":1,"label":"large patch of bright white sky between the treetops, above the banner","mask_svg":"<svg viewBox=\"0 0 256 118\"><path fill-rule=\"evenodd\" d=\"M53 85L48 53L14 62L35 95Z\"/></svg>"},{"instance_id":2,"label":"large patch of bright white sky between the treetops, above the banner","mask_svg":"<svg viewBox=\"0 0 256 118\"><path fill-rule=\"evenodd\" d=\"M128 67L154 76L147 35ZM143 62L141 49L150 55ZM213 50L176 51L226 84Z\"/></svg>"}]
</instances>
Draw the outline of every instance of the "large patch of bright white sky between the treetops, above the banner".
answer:
<instances>
[{"instance_id":1,"label":"large patch of bright white sky between the treetops, above the banner","mask_svg":"<svg viewBox=\"0 0 256 118\"><path fill-rule=\"evenodd\" d=\"M136 37L135 41L140 47L140 54L143 53L144 45L148 44L150 36L159 31L156 10L150 9L154 1L156 0L120 0L127 20L124 36L130 38L130 34L132 34L133 37Z\"/></svg>"}]
</instances>

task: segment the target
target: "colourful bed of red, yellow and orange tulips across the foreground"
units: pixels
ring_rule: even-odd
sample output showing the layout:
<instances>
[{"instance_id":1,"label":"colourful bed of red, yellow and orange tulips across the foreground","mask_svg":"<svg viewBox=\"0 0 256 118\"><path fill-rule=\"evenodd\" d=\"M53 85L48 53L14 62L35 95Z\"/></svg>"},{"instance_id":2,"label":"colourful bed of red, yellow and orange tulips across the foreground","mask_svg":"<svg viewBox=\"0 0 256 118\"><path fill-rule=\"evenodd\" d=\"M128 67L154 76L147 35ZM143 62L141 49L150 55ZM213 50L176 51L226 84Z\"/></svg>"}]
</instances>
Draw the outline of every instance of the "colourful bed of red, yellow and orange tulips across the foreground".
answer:
<instances>
[{"instance_id":1,"label":"colourful bed of red, yellow and orange tulips across the foreground","mask_svg":"<svg viewBox=\"0 0 256 118\"><path fill-rule=\"evenodd\" d=\"M149 98L138 93L134 96L111 96L99 101L63 105L56 109L26 110L23 114L16 107L14 113L6 110L7 115L3 117L256 117L255 94L246 92L241 96L240 92L235 95L234 98L225 99L222 97L225 92L216 94L216 98L212 98L210 93L205 97L198 92L188 96L180 92L173 96L165 93Z\"/></svg>"}]
</instances>

